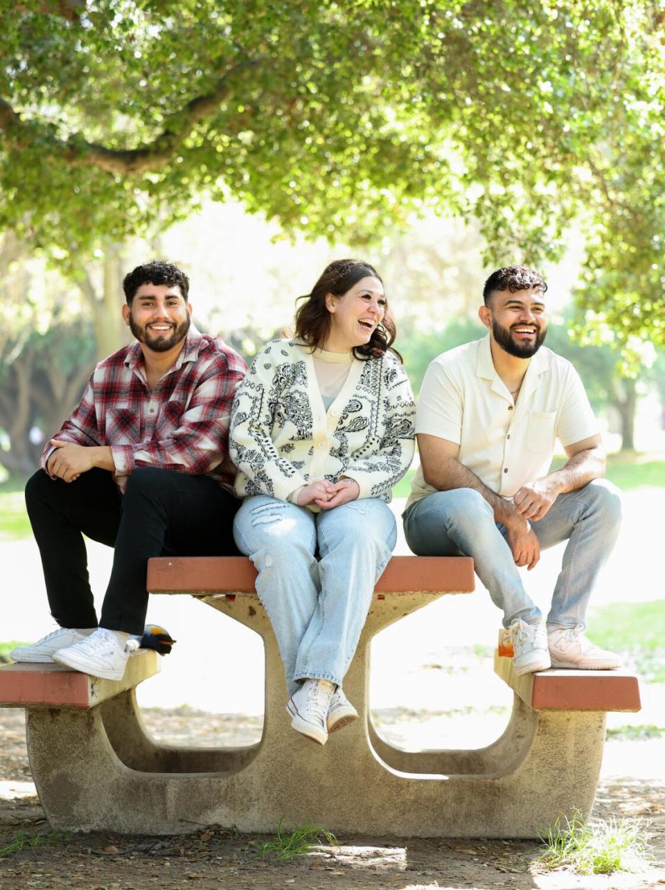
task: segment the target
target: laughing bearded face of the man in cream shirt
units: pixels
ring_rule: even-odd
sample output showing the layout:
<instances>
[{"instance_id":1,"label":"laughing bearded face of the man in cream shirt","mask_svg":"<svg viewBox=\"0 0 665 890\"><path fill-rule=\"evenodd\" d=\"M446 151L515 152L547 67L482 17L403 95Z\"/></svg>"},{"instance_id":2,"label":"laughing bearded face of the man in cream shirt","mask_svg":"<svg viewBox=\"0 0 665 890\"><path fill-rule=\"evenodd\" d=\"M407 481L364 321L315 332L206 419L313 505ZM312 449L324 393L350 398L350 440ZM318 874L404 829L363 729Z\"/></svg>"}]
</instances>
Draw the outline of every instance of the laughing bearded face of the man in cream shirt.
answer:
<instances>
[{"instance_id":1,"label":"laughing bearded face of the man in cream shirt","mask_svg":"<svg viewBox=\"0 0 665 890\"><path fill-rule=\"evenodd\" d=\"M530 359L538 352L547 333L545 298L541 290L495 290L480 320L490 328L491 337L501 349L518 359Z\"/></svg>"}]
</instances>

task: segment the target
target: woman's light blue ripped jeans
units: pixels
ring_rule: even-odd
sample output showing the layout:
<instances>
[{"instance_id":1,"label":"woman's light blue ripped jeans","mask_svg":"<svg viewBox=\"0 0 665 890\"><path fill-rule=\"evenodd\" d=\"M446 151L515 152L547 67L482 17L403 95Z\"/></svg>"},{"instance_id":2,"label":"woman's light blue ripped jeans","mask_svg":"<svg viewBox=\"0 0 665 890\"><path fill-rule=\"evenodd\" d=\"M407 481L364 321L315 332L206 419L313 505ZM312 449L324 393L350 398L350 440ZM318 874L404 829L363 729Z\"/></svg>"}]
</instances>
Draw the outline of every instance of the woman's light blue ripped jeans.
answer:
<instances>
[{"instance_id":1,"label":"woman's light blue ripped jeans","mask_svg":"<svg viewBox=\"0 0 665 890\"><path fill-rule=\"evenodd\" d=\"M258 570L256 593L280 646L289 695L306 677L341 685L397 541L390 507L362 498L314 514L257 495L243 501L233 537Z\"/></svg>"}]
</instances>

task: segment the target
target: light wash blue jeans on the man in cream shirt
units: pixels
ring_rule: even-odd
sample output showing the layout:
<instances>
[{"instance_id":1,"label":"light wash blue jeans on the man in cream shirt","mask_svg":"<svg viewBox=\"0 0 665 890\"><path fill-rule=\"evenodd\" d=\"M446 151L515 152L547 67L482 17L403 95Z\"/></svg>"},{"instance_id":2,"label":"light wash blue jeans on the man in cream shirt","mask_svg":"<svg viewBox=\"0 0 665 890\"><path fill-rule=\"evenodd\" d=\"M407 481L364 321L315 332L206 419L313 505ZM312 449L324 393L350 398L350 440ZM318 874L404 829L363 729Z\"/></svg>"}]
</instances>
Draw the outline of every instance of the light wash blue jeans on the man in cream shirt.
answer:
<instances>
[{"instance_id":1,"label":"light wash blue jeans on the man in cream shirt","mask_svg":"<svg viewBox=\"0 0 665 890\"><path fill-rule=\"evenodd\" d=\"M506 539L487 501L474 489L435 491L403 514L407 542L419 556L473 556L474 567L492 602L503 610L504 627L517 618L540 619L539 608L524 590ZM621 522L620 492L596 479L559 495L531 528L546 550L568 541L547 615L548 625L586 627L588 600L598 572L612 553Z\"/></svg>"}]
</instances>

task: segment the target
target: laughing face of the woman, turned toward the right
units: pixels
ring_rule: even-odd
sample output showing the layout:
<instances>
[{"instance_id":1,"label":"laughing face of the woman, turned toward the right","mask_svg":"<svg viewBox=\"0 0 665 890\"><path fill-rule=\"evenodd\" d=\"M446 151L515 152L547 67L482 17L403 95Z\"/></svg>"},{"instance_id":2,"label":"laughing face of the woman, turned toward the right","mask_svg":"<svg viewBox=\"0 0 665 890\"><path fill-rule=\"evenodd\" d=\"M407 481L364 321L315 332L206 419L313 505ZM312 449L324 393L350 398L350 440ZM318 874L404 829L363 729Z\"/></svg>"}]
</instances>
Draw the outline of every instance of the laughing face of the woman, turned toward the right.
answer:
<instances>
[{"instance_id":1,"label":"laughing face of the woman, turned toward the right","mask_svg":"<svg viewBox=\"0 0 665 890\"><path fill-rule=\"evenodd\" d=\"M369 343L384 320L385 305L384 287L373 275L358 281L343 296L328 294L326 309L330 313L330 330L323 349L351 352L354 346Z\"/></svg>"}]
</instances>

